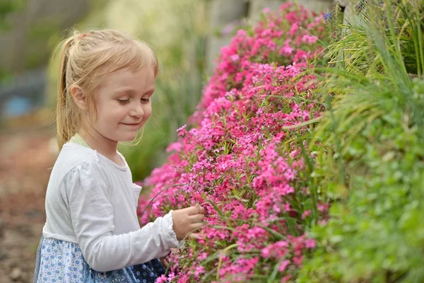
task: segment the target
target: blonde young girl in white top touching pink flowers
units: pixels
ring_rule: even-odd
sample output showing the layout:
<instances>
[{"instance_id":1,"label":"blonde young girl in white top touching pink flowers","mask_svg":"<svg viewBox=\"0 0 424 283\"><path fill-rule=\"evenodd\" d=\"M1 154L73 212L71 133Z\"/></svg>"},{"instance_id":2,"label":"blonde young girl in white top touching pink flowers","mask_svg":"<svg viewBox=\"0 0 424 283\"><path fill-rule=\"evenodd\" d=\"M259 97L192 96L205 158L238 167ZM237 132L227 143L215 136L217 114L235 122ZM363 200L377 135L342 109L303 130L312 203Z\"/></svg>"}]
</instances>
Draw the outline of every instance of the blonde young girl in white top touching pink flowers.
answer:
<instances>
[{"instance_id":1,"label":"blonde young girl in white top touching pink flowers","mask_svg":"<svg viewBox=\"0 0 424 283\"><path fill-rule=\"evenodd\" d=\"M204 221L203 208L189 207L140 229L141 187L117 151L151 115L158 61L143 42L114 30L74 33L61 50L61 151L34 282L155 282L165 272L158 258Z\"/></svg>"}]
</instances>

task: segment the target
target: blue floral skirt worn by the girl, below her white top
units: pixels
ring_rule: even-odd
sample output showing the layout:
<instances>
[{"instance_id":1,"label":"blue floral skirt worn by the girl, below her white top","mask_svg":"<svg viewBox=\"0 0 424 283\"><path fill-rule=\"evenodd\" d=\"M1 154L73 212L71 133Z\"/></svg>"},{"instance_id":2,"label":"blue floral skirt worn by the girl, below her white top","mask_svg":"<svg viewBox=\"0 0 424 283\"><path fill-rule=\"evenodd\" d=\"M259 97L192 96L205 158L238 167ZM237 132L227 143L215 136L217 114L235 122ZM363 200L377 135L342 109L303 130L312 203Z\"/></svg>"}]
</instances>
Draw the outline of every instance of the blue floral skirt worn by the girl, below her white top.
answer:
<instances>
[{"instance_id":1,"label":"blue floral skirt worn by the girl, below her white top","mask_svg":"<svg viewBox=\"0 0 424 283\"><path fill-rule=\"evenodd\" d=\"M98 272L88 265L78 244L42 236L37 249L34 283L153 283L163 274L165 268L157 259L120 270Z\"/></svg>"}]
</instances>

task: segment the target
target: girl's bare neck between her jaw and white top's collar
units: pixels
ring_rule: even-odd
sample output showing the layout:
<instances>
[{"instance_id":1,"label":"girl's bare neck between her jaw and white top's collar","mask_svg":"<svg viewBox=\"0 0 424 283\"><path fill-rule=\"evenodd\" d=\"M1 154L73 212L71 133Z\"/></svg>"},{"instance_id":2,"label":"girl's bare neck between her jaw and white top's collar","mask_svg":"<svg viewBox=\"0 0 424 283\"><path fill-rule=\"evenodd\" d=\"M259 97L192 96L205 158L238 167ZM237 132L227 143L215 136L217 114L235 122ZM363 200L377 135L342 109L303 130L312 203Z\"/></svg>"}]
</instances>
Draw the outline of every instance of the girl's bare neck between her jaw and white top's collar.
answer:
<instances>
[{"instance_id":1,"label":"girl's bare neck between her jaw and white top's collar","mask_svg":"<svg viewBox=\"0 0 424 283\"><path fill-rule=\"evenodd\" d=\"M86 127L81 127L78 131L78 134L83 138L84 141L90 146L91 149L98 151L103 156L112 158L117 154L118 142L113 141L112 139L107 139L107 137L102 136L98 131L96 131L90 125L85 125Z\"/></svg>"}]
</instances>

